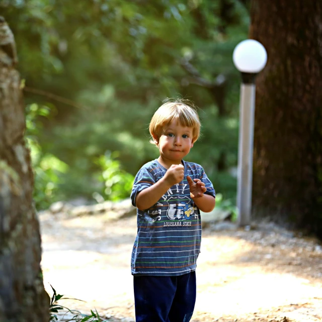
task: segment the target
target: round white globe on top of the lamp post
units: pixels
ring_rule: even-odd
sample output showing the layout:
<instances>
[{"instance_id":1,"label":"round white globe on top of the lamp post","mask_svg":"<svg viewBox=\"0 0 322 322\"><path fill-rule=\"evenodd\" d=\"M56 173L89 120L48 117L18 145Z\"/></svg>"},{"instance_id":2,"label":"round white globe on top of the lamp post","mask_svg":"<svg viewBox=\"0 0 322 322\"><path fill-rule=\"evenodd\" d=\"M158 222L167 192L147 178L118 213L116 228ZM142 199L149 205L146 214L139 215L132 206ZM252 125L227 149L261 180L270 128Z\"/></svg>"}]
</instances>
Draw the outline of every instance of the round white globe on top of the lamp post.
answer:
<instances>
[{"instance_id":1,"label":"round white globe on top of the lamp post","mask_svg":"<svg viewBox=\"0 0 322 322\"><path fill-rule=\"evenodd\" d=\"M266 65L265 47L254 39L241 41L233 50L232 60L241 72L258 73Z\"/></svg>"}]
</instances>

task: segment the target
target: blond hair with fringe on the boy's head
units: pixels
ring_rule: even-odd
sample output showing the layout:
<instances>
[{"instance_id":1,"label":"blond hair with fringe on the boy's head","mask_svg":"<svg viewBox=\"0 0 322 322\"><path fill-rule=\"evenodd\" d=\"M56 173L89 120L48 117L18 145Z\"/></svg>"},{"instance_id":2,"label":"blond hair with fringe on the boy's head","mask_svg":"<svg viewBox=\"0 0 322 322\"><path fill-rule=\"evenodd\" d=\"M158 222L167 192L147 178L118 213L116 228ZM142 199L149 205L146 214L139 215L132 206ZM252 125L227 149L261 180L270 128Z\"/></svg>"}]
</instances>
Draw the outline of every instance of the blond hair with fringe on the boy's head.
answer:
<instances>
[{"instance_id":1,"label":"blond hair with fringe on the boy's head","mask_svg":"<svg viewBox=\"0 0 322 322\"><path fill-rule=\"evenodd\" d=\"M155 144L153 135L159 138L164 127L168 126L173 119L177 119L181 126L192 127L192 142L198 140L201 124L196 107L188 100L177 99L164 103L152 116L149 125L149 131L152 136L151 143Z\"/></svg>"}]
</instances>

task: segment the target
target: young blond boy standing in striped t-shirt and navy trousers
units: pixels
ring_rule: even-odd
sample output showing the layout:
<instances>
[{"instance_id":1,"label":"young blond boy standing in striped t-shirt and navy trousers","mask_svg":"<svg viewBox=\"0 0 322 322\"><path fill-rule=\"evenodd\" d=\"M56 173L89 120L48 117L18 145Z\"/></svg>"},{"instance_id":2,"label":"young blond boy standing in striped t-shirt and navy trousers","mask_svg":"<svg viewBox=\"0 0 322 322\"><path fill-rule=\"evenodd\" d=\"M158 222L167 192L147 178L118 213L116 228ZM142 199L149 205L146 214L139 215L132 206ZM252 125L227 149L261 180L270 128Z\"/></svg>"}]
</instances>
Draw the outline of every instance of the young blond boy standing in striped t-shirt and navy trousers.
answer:
<instances>
[{"instance_id":1,"label":"young blond boy standing in striped t-shirt and navy trousers","mask_svg":"<svg viewBox=\"0 0 322 322\"><path fill-rule=\"evenodd\" d=\"M215 191L201 166L185 162L199 137L196 110L183 101L163 104L149 131L160 156L137 173L134 275L136 322L188 322L196 301L200 210L215 206Z\"/></svg>"}]
</instances>

